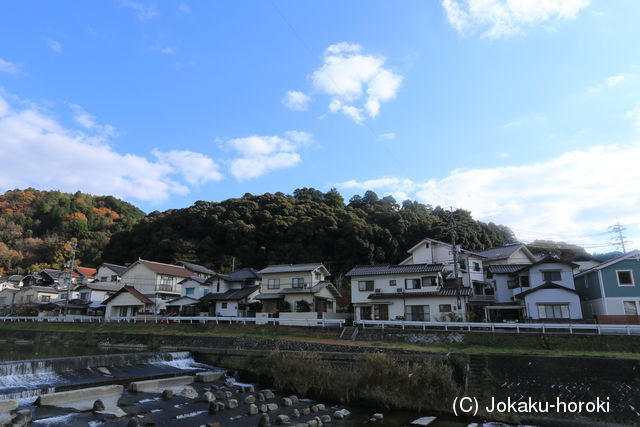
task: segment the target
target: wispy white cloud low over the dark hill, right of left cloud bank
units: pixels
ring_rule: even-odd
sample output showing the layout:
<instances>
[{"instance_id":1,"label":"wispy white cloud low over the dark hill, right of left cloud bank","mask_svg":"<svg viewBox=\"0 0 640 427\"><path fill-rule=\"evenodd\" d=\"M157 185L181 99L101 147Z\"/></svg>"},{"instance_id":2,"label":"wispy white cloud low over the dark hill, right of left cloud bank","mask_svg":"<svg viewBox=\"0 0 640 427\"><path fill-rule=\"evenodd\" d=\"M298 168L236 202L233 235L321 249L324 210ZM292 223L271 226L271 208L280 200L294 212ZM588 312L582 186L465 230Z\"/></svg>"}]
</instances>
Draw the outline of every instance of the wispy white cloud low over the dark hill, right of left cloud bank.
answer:
<instances>
[{"instance_id":1,"label":"wispy white cloud low over the dark hill, right of left cloud bank","mask_svg":"<svg viewBox=\"0 0 640 427\"><path fill-rule=\"evenodd\" d=\"M240 155L230 162L230 171L238 181L245 181L297 165L301 161L298 150L310 140L307 132L288 131L285 137L252 135L223 145Z\"/></svg>"}]
</instances>

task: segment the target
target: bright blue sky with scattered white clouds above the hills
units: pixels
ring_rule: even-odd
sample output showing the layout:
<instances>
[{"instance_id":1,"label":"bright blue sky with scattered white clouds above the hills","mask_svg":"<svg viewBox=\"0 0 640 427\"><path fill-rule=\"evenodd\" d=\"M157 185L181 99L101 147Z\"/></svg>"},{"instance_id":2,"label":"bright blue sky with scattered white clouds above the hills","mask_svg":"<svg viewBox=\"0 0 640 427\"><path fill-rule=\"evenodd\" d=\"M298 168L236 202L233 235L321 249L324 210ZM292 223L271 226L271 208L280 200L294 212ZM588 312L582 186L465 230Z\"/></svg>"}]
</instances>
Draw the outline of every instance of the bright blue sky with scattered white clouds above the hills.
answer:
<instances>
[{"instance_id":1,"label":"bright blue sky with scattered white clouds above the hills","mask_svg":"<svg viewBox=\"0 0 640 427\"><path fill-rule=\"evenodd\" d=\"M299 187L640 242L640 3L5 3L0 190L146 211Z\"/></svg>"}]
</instances>

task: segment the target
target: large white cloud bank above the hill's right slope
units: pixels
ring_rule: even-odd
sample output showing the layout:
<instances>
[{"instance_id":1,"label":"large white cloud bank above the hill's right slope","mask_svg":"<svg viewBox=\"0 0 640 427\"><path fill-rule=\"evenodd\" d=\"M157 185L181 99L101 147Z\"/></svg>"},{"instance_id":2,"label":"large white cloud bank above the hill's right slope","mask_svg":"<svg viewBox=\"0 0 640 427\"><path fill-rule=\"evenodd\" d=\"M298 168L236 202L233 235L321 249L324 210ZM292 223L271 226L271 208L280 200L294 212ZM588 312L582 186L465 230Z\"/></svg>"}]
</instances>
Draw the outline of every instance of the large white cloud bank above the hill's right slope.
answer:
<instances>
[{"instance_id":1,"label":"large white cloud bank above the hill's right slope","mask_svg":"<svg viewBox=\"0 0 640 427\"><path fill-rule=\"evenodd\" d=\"M634 185L640 182L638 164L640 142L594 146L535 164L454 170L426 182L385 177L337 186L404 192L434 206L468 209L476 218L516 231L584 235L606 230L617 217L640 223L640 194Z\"/></svg>"}]
</instances>

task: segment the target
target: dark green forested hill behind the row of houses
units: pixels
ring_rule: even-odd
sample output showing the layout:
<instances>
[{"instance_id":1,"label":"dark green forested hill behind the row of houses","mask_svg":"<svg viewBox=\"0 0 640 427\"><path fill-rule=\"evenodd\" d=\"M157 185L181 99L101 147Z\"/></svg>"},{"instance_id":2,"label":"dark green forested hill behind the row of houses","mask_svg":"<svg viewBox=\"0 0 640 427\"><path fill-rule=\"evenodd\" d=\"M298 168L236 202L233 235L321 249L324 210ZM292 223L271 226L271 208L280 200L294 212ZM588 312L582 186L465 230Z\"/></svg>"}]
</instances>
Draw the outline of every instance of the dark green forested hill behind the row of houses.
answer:
<instances>
[{"instance_id":1,"label":"dark green forested hill behind the row of houses","mask_svg":"<svg viewBox=\"0 0 640 427\"><path fill-rule=\"evenodd\" d=\"M373 192L345 204L331 190L304 188L293 195L251 195L222 202L152 212L129 231L116 233L104 250L105 261L138 257L161 262L191 261L217 271L264 267L272 263L322 261L334 276L355 264L395 263L425 237L449 241L442 208L417 202L401 205ZM459 243L481 250L514 241L511 230L454 213Z\"/></svg>"}]
</instances>

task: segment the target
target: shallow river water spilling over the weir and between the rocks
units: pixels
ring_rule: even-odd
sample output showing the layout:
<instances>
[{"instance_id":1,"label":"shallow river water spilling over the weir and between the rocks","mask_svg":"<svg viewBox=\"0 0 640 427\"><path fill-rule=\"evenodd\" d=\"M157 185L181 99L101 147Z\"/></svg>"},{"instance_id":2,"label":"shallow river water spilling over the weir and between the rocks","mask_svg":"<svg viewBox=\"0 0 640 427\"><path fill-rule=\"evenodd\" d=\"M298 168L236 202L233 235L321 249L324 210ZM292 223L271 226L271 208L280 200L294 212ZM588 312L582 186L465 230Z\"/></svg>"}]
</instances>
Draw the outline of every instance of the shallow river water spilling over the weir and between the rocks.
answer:
<instances>
[{"instance_id":1,"label":"shallow river water spilling over the weir and between the rocks","mask_svg":"<svg viewBox=\"0 0 640 427\"><path fill-rule=\"evenodd\" d=\"M5 393L4 398L18 398L21 406L29 408L34 414L34 426L75 426L75 425L108 425L108 426L125 426L128 419L97 419L91 412L78 413L60 408L43 408L34 407L32 403L35 401L39 393L54 391L53 387L91 387L102 379L95 371L95 366L104 366L108 363L114 363L118 366L112 366L112 382L126 382L127 378L144 378L157 375L180 375L181 373L192 373L194 370L207 368L193 361L191 356L180 352L174 353L158 353L157 357L149 353L130 354L129 356L104 356L99 355L118 355L123 353L131 353L131 350L122 349L102 349L98 346L51 346L39 344L20 344L20 343L4 343L0 344L0 371L5 370L3 377L0 377L0 399ZM169 356L161 356L168 354ZM80 356L98 356L85 358ZM72 359L69 359L69 358ZM51 358L67 358L57 361L47 362L23 362L17 364L8 364L7 361L31 361L38 359ZM130 364L122 365L121 359L131 359ZM84 363L83 360L91 362ZM84 363L84 364L83 364ZM46 365L46 366L45 366ZM64 368L61 369L60 366ZM225 385L220 384L221 387ZM3 388L4 387L4 388ZM205 386L194 384L199 393L205 391ZM257 389L257 387L256 387ZM276 399L281 400L282 394L277 394ZM238 399L242 399L244 395L238 394ZM241 401L241 400L240 400ZM129 413L143 414L145 419L154 422L156 425L163 426L200 426L212 420L211 415L207 413L207 404L203 402L191 401L186 398L174 398L171 402L165 402L157 397L144 397L140 394L126 392L121 399L123 409ZM313 405L311 399L303 399L303 405ZM332 414L334 410L347 408L351 415L342 421L334 422L336 426L361 426L368 424L369 418L375 412L383 412L385 420L377 425L386 426L406 426L421 417L433 414L418 414L407 411L382 411L375 408L352 407L345 405L333 405L330 402L323 402L327 406L326 414ZM241 404L242 407L242 404ZM238 410L240 410L239 408ZM284 409L284 408L282 408ZM242 409L238 415L246 414L246 407ZM225 413L226 414L226 413ZM234 415L233 411L229 411L230 415ZM182 417L182 418L181 418ZM226 422L222 425L233 426L255 426L256 418L243 417L231 421L232 417L227 416L229 424ZM275 418L275 415L274 417ZM272 418L272 420L273 420ZM473 420L460 419L453 416L439 416L438 419L430 424L433 427L466 427ZM482 425L482 423L480 423Z\"/></svg>"}]
</instances>

